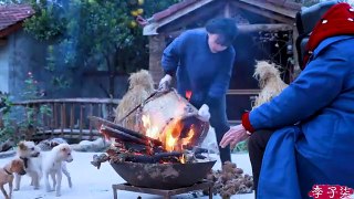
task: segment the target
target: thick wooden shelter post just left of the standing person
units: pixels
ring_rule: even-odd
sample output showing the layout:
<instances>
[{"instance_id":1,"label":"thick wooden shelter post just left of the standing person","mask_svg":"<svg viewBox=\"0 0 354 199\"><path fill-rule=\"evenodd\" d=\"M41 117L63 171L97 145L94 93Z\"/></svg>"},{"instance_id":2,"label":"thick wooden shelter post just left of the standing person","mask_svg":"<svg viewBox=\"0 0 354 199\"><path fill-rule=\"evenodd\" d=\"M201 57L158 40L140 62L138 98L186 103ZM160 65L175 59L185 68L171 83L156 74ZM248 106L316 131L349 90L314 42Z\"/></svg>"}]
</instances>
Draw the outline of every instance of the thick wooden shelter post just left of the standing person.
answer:
<instances>
[{"instance_id":1,"label":"thick wooden shelter post just left of the standing person","mask_svg":"<svg viewBox=\"0 0 354 199\"><path fill-rule=\"evenodd\" d=\"M166 48L165 36L164 35L150 35L149 36L149 72L153 75L155 84L158 84L159 80L164 75L162 69L162 56L164 49Z\"/></svg>"}]
</instances>

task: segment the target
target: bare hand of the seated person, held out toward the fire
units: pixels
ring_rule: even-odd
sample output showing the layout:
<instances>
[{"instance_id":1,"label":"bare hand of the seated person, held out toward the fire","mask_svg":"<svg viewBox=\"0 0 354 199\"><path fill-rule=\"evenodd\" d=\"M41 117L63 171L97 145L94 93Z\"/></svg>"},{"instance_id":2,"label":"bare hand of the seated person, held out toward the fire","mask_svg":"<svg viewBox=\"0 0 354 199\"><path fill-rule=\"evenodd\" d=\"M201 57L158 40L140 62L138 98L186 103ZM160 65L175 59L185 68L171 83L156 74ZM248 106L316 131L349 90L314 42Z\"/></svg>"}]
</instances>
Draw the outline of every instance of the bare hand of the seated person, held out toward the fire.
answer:
<instances>
[{"instance_id":1,"label":"bare hand of the seated person, held out toward the fire","mask_svg":"<svg viewBox=\"0 0 354 199\"><path fill-rule=\"evenodd\" d=\"M228 145L230 145L230 148L233 149L236 147L236 145L244 139L247 139L249 137L249 135L247 134L247 130L244 129L244 127L240 124L237 126L232 126L229 132L227 132L221 142L220 142L220 146L221 148L227 147Z\"/></svg>"}]
</instances>

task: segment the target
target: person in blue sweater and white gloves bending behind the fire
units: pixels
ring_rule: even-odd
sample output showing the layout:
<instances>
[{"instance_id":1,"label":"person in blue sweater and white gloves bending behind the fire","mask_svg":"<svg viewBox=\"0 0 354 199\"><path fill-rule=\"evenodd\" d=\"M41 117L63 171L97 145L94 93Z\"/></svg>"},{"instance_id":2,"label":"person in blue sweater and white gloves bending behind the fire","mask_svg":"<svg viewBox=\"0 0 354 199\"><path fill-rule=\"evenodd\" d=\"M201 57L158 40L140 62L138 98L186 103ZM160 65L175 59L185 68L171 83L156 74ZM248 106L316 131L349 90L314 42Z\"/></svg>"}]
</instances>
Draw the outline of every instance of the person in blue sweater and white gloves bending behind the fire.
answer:
<instances>
[{"instance_id":1,"label":"person in blue sweater and white gloves bending behind the fire","mask_svg":"<svg viewBox=\"0 0 354 199\"><path fill-rule=\"evenodd\" d=\"M215 128L219 143L230 129L226 114L226 93L235 61L232 42L238 29L232 19L210 20L205 30L189 30L164 51L162 65L166 75L159 86L177 77L181 96L191 93L190 103ZM209 109L210 108L210 109ZM210 115L209 115L210 113ZM220 148L222 163L231 160L230 148Z\"/></svg>"}]
</instances>

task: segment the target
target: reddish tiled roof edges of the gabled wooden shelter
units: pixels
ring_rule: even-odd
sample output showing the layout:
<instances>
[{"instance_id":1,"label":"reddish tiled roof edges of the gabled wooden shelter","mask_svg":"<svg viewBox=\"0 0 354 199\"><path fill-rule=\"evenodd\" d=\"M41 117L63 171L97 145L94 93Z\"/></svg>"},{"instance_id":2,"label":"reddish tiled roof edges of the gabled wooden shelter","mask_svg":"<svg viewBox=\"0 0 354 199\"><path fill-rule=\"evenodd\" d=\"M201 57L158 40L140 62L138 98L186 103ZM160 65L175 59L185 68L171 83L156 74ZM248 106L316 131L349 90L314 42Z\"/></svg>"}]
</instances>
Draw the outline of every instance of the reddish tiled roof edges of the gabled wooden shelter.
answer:
<instances>
[{"instance_id":1,"label":"reddish tiled roof edges of the gabled wooden shelter","mask_svg":"<svg viewBox=\"0 0 354 199\"><path fill-rule=\"evenodd\" d=\"M174 14L175 12L179 11L180 9L184 9L184 8L186 8L192 3L196 3L198 1L202 1L202 0L184 0L179 3L173 4L169 8L167 8L166 10L163 10L160 12L155 13L153 15L153 20L155 22L158 22L162 19ZM282 8L285 8L289 10L300 10L300 8L301 8L301 3L294 2L293 0L257 0L257 1L270 2L277 7L282 7Z\"/></svg>"}]
</instances>

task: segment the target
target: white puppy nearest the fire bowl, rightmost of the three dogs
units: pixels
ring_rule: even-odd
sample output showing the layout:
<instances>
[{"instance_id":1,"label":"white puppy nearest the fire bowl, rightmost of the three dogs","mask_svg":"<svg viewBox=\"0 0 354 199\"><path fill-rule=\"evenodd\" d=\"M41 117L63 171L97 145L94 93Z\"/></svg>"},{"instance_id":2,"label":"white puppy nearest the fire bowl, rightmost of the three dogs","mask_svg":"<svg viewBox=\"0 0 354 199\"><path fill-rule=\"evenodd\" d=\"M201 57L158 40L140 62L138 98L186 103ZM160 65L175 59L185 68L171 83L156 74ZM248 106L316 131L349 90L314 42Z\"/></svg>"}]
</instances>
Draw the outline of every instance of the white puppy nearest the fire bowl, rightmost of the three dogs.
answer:
<instances>
[{"instance_id":1,"label":"white puppy nearest the fire bowl, rightmost of the three dogs","mask_svg":"<svg viewBox=\"0 0 354 199\"><path fill-rule=\"evenodd\" d=\"M62 172L67 177L69 187L72 187L71 177L66 169L66 163L73 161L72 149L69 144L60 144L49 151L43 161L44 184L48 192L56 191L61 196ZM53 188L49 182L49 175L53 179Z\"/></svg>"}]
</instances>

